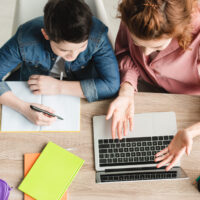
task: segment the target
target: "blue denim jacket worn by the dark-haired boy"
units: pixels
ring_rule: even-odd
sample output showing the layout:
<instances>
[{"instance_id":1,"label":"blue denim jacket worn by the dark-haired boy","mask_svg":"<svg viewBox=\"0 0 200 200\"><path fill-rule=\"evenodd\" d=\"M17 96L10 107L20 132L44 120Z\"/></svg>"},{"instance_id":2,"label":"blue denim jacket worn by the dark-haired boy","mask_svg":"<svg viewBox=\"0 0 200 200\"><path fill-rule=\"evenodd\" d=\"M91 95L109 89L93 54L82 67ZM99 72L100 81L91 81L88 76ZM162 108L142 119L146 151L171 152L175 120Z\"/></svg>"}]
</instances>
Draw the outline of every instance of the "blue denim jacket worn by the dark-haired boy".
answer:
<instances>
[{"instance_id":1,"label":"blue denim jacket worn by the dark-haired boy","mask_svg":"<svg viewBox=\"0 0 200 200\"><path fill-rule=\"evenodd\" d=\"M120 85L117 60L107 37L108 28L95 17L92 21L87 49L75 61L65 61L68 79L80 81L89 102L116 95ZM32 74L49 75L57 56L41 33L43 27L43 17L26 22L0 49L0 95L10 90L2 79L19 64L20 81L27 81Z\"/></svg>"}]
</instances>

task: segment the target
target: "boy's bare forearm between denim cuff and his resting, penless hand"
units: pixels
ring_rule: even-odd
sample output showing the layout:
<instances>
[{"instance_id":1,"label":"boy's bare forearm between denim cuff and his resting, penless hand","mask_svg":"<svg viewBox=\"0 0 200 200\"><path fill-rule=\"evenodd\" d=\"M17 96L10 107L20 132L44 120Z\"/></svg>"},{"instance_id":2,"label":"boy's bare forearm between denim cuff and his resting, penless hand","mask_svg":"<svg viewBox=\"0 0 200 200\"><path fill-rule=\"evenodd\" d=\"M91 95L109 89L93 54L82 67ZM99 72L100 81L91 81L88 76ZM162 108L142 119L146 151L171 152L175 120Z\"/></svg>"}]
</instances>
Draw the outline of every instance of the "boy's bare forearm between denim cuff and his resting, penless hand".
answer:
<instances>
[{"instance_id":1,"label":"boy's bare forearm between denim cuff and his resting, penless hand","mask_svg":"<svg viewBox=\"0 0 200 200\"><path fill-rule=\"evenodd\" d=\"M85 98L80 81L60 81L59 93Z\"/></svg>"}]
</instances>

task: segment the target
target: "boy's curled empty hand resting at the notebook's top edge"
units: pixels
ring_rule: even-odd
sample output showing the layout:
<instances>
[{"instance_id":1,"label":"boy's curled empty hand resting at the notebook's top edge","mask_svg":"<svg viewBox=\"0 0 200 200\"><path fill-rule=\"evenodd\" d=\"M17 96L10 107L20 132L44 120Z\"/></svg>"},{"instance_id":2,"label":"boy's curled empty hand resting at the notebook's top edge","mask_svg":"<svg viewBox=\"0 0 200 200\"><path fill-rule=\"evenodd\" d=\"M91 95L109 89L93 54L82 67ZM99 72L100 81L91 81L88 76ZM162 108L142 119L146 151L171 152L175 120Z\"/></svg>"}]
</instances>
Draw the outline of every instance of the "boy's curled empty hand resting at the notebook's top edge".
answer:
<instances>
[{"instance_id":1,"label":"boy's curled empty hand resting at the notebook's top edge","mask_svg":"<svg viewBox=\"0 0 200 200\"><path fill-rule=\"evenodd\" d=\"M28 80L30 90L35 95L55 95L59 94L60 80L51 76L32 75Z\"/></svg>"}]
</instances>

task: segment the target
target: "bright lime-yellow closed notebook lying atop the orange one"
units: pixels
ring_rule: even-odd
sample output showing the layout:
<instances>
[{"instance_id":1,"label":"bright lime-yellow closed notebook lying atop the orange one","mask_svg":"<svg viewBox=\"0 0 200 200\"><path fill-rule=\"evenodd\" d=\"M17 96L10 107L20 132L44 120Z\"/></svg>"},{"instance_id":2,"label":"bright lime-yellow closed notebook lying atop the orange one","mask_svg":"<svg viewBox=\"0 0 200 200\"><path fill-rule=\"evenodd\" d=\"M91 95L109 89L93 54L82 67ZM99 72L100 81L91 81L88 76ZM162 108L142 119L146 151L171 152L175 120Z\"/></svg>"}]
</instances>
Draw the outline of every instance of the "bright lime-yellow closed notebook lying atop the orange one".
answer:
<instances>
[{"instance_id":1,"label":"bright lime-yellow closed notebook lying atop the orange one","mask_svg":"<svg viewBox=\"0 0 200 200\"><path fill-rule=\"evenodd\" d=\"M18 189L37 200L60 200L84 160L49 142Z\"/></svg>"}]
</instances>

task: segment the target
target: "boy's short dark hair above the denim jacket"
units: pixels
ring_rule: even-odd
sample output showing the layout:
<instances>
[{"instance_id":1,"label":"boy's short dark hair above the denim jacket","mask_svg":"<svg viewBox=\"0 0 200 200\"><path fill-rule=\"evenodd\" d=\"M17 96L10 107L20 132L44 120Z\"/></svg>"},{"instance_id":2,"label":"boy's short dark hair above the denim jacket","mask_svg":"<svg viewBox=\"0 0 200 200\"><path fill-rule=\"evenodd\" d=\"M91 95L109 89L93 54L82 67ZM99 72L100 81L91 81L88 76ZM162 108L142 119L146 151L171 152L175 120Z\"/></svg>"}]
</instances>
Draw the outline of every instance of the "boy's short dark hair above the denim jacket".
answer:
<instances>
[{"instance_id":1,"label":"boy's short dark hair above the denim jacket","mask_svg":"<svg viewBox=\"0 0 200 200\"><path fill-rule=\"evenodd\" d=\"M49 0L44 7L44 28L54 42L84 42L91 27L92 13L83 0Z\"/></svg>"}]
</instances>

